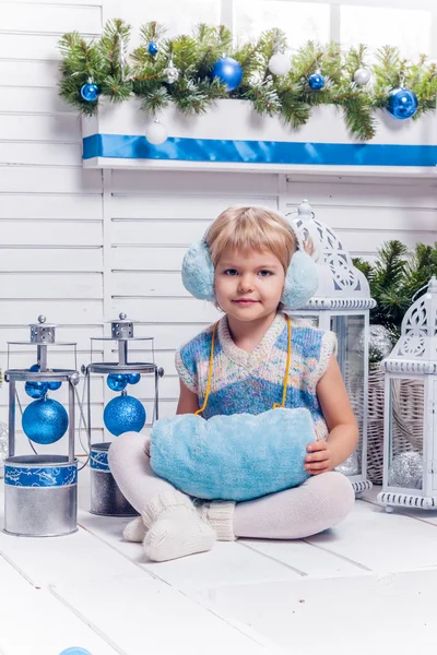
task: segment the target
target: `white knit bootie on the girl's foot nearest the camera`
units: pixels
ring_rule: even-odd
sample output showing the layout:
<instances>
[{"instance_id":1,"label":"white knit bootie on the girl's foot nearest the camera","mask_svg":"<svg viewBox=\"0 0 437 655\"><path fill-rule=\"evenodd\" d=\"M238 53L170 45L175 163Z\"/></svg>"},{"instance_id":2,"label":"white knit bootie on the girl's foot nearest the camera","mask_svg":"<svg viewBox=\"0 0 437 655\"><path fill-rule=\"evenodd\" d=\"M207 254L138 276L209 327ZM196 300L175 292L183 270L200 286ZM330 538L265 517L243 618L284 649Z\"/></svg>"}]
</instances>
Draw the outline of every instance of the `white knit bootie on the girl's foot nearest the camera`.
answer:
<instances>
[{"instance_id":1,"label":"white knit bootie on the girl's foot nearest the camera","mask_svg":"<svg viewBox=\"0 0 437 655\"><path fill-rule=\"evenodd\" d=\"M215 532L180 491L158 493L142 514L145 525L143 548L149 559L163 562L210 550Z\"/></svg>"}]
</instances>

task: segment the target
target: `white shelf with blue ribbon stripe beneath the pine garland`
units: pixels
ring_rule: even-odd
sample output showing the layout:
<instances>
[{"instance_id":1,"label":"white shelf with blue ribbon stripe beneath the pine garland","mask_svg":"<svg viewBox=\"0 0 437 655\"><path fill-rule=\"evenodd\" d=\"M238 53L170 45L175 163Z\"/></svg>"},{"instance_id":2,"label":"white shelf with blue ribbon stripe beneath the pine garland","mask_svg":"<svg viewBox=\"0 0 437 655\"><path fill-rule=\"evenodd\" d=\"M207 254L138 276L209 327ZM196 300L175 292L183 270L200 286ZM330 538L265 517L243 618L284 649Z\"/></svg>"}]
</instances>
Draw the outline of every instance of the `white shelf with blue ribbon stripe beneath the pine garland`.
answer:
<instances>
[{"instance_id":1,"label":"white shelf with blue ribbon stripe beneath the pine garland","mask_svg":"<svg viewBox=\"0 0 437 655\"><path fill-rule=\"evenodd\" d=\"M308 123L292 130L277 118L260 117L246 100L217 100L208 114L182 116L165 109L160 121L167 141L151 145L147 119L132 99L102 104L83 118L84 168L221 170L282 174L433 177L437 165L437 116L398 121L377 114L374 139L347 132L341 110L317 107Z\"/></svg>"}]
</instances>

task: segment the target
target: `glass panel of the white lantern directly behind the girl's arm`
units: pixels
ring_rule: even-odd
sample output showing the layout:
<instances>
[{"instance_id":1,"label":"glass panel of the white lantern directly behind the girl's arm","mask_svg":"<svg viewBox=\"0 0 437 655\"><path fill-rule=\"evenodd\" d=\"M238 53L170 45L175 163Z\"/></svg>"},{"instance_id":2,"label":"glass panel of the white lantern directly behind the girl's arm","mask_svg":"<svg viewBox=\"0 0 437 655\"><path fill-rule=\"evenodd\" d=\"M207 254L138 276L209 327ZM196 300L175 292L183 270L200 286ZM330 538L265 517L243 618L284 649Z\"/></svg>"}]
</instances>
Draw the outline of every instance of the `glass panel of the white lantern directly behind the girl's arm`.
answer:
<instances>
[{"instance_id":1,"label":"glass panel of the white lantern directly behind the girl's arm","mask_svg":"<svg viewBox=\"0 0 437 655\"><path fill-rule=\"evenodd\" d=\"M356 448L358 468L362 471L364 408L365 408L365 315L333 315L331 330L339 341L338 361L352 408L358 424L359 441Z\"/></svg>"}]
</instances>

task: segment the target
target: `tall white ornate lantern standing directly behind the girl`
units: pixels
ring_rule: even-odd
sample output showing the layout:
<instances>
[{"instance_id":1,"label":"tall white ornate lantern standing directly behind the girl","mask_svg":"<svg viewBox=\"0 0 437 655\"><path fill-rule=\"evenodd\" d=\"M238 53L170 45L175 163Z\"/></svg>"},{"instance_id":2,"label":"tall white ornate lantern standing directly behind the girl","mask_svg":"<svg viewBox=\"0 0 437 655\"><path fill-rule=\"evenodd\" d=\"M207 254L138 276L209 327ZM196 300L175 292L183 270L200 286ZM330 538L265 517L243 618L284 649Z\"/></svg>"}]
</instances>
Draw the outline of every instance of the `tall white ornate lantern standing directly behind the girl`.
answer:
<instances>
[{"instance_id":1,"label":"tall white ornate lantern standing directly behind the girl","mask_svg":"<svg viewBox=\"0 0 437 655\"><path fill-rule=\"evenodd\" d=\"M297 209L294 225L304 240L310 237L319 271L315 296L292 315L309 319L338 335L338 360L359 428L359 442L339 471L351 479L356 493L371 488L367 479L367 396L369 311L376 302L364 274L334 231L316 219L307 200ZM286 309L286 308L285 308Z\"/></svg>"}]
</instances>

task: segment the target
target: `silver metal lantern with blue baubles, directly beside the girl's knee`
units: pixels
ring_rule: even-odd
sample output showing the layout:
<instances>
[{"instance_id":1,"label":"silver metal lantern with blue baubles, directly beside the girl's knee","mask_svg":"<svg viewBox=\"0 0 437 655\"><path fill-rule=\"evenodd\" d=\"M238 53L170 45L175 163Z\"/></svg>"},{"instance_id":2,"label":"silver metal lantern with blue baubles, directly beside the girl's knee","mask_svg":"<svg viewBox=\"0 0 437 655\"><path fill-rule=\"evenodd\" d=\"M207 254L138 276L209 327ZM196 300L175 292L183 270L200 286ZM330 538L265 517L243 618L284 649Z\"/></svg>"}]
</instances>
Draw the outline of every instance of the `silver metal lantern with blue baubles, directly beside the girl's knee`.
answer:
<instances>
[{"instance_id":1,"label":"silver metal lantern with blue baubles, directly beside the girl's knee","mask_svg":"<svg viewBox=\"0 0 437 655\"><path fill-rule=\"evenodd\" d=\"M125 313L110 321L111 335L107 337L91 338L91 364L84 369L87 382L87 424L88 438L91 443L91 374L99 373L107 376L108 385L114 391L120 391L121 395L113 398L105 407L104 420L106 427L113 434L120 434L123 431L139 431L145 420L145 412L137 398L128 395L127 386L130 380L131 384L137 384L141 376L154 377L154 403L152 422L158 418L158 380L164 376L164 369L155 364L154 340L153 337L133 336L133 321L127 319ZM96 342L115 342L117 344L118 359L115 361L93 361L93 345ZM152 361L129 361L128 345L147 343L147 350L152 352ZM128 379L128 380L127 380ZM127 407L118 407L128 403ZM114 408L113 408L114 405ZM113 410L114 409L114 410ZM135 417L135 410L144 413L144 420ZM133 415L133 422L132 422ZM135 424L137 420L137 424ZM140 420L140 422L138 422ZM125 422L127 421L127 422ZM140 427L141 426L141 427ZM126 427L126 429L125 429ZM108 464L108 450L110 441L91 444L90 466L91 466L91 513L101 516L132 516L138 512L126 500L117 483L114 479Z\"/></svg>"}]
</instances>

